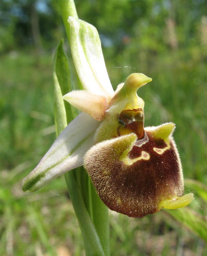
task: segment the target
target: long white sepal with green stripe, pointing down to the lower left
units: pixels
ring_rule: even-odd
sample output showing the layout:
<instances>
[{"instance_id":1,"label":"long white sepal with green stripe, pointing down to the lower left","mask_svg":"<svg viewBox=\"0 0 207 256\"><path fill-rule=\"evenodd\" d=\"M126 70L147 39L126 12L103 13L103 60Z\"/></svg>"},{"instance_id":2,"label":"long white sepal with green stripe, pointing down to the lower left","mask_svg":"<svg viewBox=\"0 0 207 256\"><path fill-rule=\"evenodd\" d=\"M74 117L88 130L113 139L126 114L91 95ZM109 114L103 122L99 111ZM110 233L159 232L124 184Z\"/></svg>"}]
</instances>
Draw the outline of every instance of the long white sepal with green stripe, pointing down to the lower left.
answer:
<instances>
[{"instance_id":1,"label":"long white sepal with green stripe, pointing down to the lower left","mask_svg":"<svg viewBox=\"0 0 207 256\"><path fill-rule=\"evenodd\" d=\"M55 177L83 165L85 152L94 144L99 122L80 113L58 136L35 169L23 180L22 189L34 192Z\"/></svg>"}]
</instances>

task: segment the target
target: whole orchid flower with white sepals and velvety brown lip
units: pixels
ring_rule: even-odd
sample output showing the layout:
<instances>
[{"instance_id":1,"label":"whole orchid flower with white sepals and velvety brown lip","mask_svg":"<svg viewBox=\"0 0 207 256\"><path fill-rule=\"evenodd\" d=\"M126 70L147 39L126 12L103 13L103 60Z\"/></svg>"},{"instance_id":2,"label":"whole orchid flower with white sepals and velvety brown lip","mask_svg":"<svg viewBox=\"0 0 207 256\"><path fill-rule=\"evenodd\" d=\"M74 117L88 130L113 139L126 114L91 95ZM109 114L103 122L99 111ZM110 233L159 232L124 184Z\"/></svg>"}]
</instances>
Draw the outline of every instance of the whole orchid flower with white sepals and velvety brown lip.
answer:
<instances>
[{"instance_id":1,"label":"whole orchid flower with white sepals and velvety brown lip","mask_svg":"<svg viewBox=\"0 0 207 256\"><path fill-rule=\"evenodd\" d=\"M84 165L101 200L117 212L143 217L161 208L184 207L175 125L144 128L144 101L137 90L152 81L133 73L114 92L96 28L69 17L71 52L84 90L63 96L82 112L65 128L23 180L34 192L55 177Z\"/></svg>"}]
</instances>

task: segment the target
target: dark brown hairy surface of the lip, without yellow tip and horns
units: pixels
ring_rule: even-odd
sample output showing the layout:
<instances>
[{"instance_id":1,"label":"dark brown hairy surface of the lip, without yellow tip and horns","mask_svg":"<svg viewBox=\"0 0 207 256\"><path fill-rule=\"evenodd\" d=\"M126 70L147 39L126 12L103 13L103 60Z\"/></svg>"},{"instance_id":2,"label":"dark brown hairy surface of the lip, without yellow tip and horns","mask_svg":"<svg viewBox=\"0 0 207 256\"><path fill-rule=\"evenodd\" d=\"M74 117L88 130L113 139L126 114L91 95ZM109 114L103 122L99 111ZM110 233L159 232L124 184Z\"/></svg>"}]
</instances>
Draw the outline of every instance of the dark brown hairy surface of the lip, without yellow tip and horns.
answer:
<instances>
[{"instance_id":1,"label":"dark brown hairy surface of the lip, without yellow tip and horns","mask_svg":"<svg viewBox=\"0 0 207 256\"><path fill-rule=\"evenodd\" d=\"M96 152L101 158L87 162L86 167L102 201L111 209L130 217L144 217L160 210L159 203L181 196L183 185L180 177L179 159L173 142L169 145L162 140L154 140L147 131L148 142L141 147L133 146L130 159L138 158L142 152L150 158L140 159L131 165L120 161L116 150L103 154L104 149ZM154 148L163 150L157 153ZM106 152L106 151L104 151ZM101 159L101 160L100 160Z\"/></svg>"}]
</instances>

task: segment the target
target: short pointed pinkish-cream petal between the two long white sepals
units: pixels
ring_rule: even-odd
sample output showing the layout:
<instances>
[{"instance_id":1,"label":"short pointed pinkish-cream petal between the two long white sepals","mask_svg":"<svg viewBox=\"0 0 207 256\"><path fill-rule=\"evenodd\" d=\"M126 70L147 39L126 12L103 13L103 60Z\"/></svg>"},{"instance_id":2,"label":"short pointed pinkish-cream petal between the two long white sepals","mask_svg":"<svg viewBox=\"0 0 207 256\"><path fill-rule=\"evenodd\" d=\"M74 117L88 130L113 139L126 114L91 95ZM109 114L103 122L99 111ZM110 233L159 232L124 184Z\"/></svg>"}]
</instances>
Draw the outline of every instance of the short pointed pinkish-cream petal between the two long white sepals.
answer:
<instances>
[{"instance_id":1,"label":"short pointed pinkish-cream petal between the two long white sepals","mask_svg":"<svg viewBox=\"0 0 207 256\"><path fill-rule=\"evenodd\" d=\"M72 91L63 96L71 105L100 121L107 108L106 97L88 91Z\"/></svg>"}]
</instances>

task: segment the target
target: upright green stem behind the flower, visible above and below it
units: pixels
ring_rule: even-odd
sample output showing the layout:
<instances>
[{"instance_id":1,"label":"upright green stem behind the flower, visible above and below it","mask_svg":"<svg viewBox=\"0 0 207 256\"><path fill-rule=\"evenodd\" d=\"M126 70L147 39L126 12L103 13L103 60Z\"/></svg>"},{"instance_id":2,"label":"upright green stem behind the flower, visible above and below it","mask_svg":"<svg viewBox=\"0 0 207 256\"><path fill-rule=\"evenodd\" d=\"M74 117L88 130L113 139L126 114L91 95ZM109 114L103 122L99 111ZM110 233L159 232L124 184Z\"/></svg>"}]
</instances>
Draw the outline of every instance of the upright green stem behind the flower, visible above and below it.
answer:
<instances>
[{"instance_id":1,"label":"upright green stem behind the flower, visible above and below it","mask_svg":"<svg viewBox=\"0 0 207 256\"><path fill-rule=\"evenodd\" d=\"M70 43L70 24L67 22L67 20L68 20L68 16L72 16L78 19L75 4L73 0L59 0L59 5L60 5L67 37ZM77 89L81 89L81 88L77 88ZM74 189L72 189L72 187L73 188L75 187L71 182L71 179L73 180L75 179L77 185L79 186L80 193L82 195L81 200L84 202L85 207L90 215L90 219L92 220L95 226L95 230L98 234L98 238L100 239L100 243L102 245L104 255L106 256L110 255L108 208L103 204L103 202L100 200L99 196L97 195L90 177L87 178L87 173L85 172L85 170L83 170L83 168L81 168L78 172L74 173L74 176L72 176L71 172L65 174L65 179L66 179L69 194L70 196L72 195L71 201L73 203L73 206L80 224L80 228L82 227L84 230L85 226L83 225L82 222L80 222L82 218L81 211L79 212L79 210L76 208L78 203L76 201L77 198L75 197L75 195L73 195ZM88 180L88 184L83 185L82 179L84 179L84 181ZM85 230L85 232L88 232L88 230ZM84 240L86 254L93 255L90 251L88 251L88 243L84 239L85 237L84 232L82 232L82 236ZM97 255L101 255L101 254L97 254Z\"/></svg>"}]
</instances>

